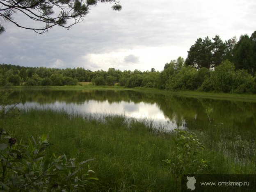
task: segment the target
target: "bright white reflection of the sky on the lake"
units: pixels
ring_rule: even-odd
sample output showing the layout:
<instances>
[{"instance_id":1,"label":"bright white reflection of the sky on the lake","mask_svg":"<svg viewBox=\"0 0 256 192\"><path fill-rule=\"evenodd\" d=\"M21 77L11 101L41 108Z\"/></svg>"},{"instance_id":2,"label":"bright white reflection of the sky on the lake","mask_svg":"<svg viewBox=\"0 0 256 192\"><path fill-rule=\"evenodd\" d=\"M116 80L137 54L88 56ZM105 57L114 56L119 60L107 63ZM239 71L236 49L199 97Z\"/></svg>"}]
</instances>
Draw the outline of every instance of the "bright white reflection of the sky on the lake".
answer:
<instances>
[{"instance_id":1,"label":"bright white reflection of the sky on the lake","mask_svg":"<svg viewBox=\"0 0 256 192\"><path fill-rule=\"evenodd\" d=\"M80 114L90 114L92 117L98 117L102 114L124 114L128 119L146 119L151 122L153 126L158 128L160 127L165 130L173 130L174 128L177 128L175 121L170 122L170 119L165 117L164 113L156 103L151 104L143 101L139 103L135 103L133 101L96 101L93 99L76 103L67 103L65 101L55 101L51 103L28 101L18 104L17 107L23 109L50 108L53 110L65 110L69 113L78 112Z\"/></svg>"}]
</instances>

